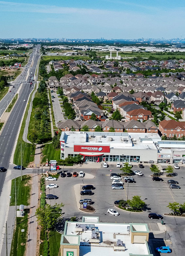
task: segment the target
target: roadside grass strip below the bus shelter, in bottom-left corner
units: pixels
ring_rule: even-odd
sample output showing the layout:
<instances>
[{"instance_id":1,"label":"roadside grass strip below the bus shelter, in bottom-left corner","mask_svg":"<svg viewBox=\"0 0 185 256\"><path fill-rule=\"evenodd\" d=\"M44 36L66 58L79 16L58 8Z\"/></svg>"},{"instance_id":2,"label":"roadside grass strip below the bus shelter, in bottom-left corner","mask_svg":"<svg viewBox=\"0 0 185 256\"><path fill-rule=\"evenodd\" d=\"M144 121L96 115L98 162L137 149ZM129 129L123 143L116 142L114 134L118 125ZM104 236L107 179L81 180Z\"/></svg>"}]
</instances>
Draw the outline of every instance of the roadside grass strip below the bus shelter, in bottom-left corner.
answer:
<instances>
[{"instance_id":1,"label":"roadside grass strip below the bus shelter, in bottom-left corner","mask_svg":"<svg viewBox=\"0 0 185 256\"><path fill-rule=\"evenodd\" d=\"M17 226L13 232L13 238L11 243L10 256L25 255L26 240L27 240L27 229L28 229L28 215L17 218ZM24 232L21 232L24 229ZM21 245L22 244L22 245Z\"/></svg>"}]
</instances>

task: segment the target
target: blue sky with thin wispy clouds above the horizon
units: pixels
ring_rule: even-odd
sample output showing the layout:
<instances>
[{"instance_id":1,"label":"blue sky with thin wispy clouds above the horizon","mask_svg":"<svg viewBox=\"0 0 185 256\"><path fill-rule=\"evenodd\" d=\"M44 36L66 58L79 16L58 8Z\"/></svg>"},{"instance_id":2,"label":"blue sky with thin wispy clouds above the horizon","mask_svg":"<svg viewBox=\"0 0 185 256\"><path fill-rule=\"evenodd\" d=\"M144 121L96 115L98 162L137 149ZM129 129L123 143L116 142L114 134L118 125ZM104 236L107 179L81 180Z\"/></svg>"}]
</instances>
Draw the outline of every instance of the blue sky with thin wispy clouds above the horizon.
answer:
<instances>
[{"instance_id":1,"label":"blue sky with thin wispy clouds above the horizon","mask_svg":"<svg viewBox=\"0 0 185 256\"><path fill-rule=\"evenodd\" d=\"M184 0L0 1L0 38L184 38Z\"/></svg>"}]
</instances>

